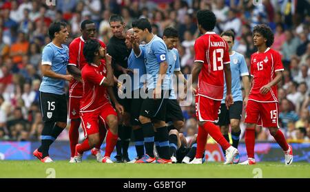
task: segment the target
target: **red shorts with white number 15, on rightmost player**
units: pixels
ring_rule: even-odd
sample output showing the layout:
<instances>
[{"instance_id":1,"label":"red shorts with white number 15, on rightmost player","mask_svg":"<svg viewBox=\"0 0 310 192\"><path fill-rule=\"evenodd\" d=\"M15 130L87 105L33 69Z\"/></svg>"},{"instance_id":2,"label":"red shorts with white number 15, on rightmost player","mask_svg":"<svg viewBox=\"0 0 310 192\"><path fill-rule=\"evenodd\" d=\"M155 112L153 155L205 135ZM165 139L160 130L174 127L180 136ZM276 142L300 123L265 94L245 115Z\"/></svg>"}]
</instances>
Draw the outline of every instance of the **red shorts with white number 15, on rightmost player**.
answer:
<instances>
[{"instance_id":1,"label":"red shorts with white number 15, on rightmost player","mask_svg":"<svg viewBox=\"0 0 310 192\"><path fill-rule=\"evenodd\" d=\"M245 108L245 122L262 127L278 127L278 103L260 103L248 100Z\"/></svg>"}]
</instances>

